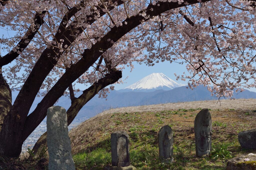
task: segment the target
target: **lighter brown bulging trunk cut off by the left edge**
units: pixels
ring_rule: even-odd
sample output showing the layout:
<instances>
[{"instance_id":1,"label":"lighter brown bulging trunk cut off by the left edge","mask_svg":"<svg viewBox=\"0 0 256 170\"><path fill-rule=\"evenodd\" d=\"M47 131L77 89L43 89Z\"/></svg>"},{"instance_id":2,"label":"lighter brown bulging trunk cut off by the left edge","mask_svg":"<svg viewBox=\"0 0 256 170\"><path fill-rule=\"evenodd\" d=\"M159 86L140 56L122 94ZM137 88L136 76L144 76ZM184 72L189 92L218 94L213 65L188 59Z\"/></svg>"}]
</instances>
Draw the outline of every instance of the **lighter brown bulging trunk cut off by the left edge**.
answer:
<instances>
[{"instance_id":1,"label":"lighter brown bulging trunk cut off by the left edge","mask_svg":"<svg viewBox=\"0 0 256 170\"><path fill-rule=\"evenodd\" d=\"M0 130L4 122L4 117L7 115L11 107L12 92L9 85L4 80L2 68L0 68Z\"/></svg>"}]
</instances>

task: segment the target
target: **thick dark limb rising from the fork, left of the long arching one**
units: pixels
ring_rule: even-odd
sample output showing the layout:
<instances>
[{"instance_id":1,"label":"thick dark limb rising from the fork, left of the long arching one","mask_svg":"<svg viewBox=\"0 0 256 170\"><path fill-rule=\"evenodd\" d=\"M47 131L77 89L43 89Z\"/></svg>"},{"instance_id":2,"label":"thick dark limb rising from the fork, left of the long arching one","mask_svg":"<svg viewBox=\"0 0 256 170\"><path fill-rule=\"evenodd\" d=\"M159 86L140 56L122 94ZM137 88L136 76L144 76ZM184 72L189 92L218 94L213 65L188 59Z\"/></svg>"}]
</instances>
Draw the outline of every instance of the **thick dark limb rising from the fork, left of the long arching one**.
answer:
<instances>
[{"instance_id":1,"label":"thick dark limb rising from the fork, left of the long arching one","mask_svg":"<svg viewBox=\"0 0 256 170\"><path fill-rule=\"evenodd\" d=\"M118 0L113 0L113 1L115 2ZM121 1L120 4L122 4L122 3L123 3L123 1ZM76 10L70 10L70 11L73 14L73 11L76 11ZM101 10L100 16L103 16L104 14L106 14L106 13ZM93 15L89 15L86 17L86 22L88 24L92 24L95 21L95 19L90 19L90 18L94 18L95 17L94 15L98 15L98 14L94 13ZM70 19L71 15L67 15L67 16L68 16L67 19ZM66 20L63 19L62 21L66 21ZM65 27L63 27L61 25L60 25L59 29L61 31L60 32L58 31L56 33L55 41L59 41L63 37L66 37L67 40L64 40L62 46L67 45L69 47L71 45L71 43L75 40L75 38L72 35L72 30L65 29ZM79 31L79 34L83 32L82 28L79 27L77 29ZM77 30L73 30L73 32L74 31L77 31ZM24 85L22 86L22 89L20 90L17 98L15 99L14 104L13 104L14 107L12 107L12 109L10 110L10 113L8 113L8 114L16 115L17 113L19 113L20 118L21 118L19 120L19 122L21 124L24 123L24 121L26 119L25 116L27 116L29 109L30 109L42 83L44 82L46 76L50 73L52 68L54 68L54 66L56 65L56 63L59 59L59 56L60 56L59 50L60 50L59 48L53 48L53 49L46 48L42 52L40 58L36 62L34 68L30 72L27 80L25 81ZM59 55L56 56L56 54L59 54ZM57 60L55 57L57 57ZM25 99L24 99L24 96L26 96ZM26 103L26 105L24 105L23 103Z\"/></svg>"}]
</instances>

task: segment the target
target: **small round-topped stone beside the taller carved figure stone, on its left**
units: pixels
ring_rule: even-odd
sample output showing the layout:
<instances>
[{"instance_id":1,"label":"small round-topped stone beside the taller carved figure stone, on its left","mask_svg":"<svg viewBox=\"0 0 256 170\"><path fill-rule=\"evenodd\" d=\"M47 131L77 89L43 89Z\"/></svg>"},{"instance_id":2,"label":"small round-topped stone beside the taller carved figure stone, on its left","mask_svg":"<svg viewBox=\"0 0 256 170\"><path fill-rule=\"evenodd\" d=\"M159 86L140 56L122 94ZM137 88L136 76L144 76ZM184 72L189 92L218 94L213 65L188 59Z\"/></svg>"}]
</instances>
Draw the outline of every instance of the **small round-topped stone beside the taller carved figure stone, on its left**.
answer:
<instances>
[{"instance_id":1,"label":"small round-topped stone beside the taller carved figure stone, on its left","mask_svg":"<svg viewBox=\"0 0 256 170\"><path fill-rule=\"evenodd\" d=\"M173 162L173 130L163 126L158 133L159 159L163 163Z\"/></svg>"}]
</instances>

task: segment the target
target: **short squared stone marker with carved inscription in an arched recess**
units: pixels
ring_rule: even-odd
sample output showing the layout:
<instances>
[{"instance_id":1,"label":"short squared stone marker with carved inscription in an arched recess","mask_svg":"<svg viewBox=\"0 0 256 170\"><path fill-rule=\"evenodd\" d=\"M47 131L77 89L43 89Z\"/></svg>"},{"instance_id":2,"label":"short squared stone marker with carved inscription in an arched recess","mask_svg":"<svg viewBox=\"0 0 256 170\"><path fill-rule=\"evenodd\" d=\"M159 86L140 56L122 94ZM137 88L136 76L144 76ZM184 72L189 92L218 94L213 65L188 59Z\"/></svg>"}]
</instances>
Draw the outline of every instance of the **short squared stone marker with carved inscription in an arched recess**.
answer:
<instances>
[{"instance_id":1,"label":"short squared stone marker with carved inscription in an arched recess","mask_svg":"<svg viewBox=\"0 0 256 170\"><path fill-rule=\"evenodd\" d=\"M129 136L124 131L117 131L111 134L111 156L112 166L129 166Z\"/></svg>"}]
</instances>

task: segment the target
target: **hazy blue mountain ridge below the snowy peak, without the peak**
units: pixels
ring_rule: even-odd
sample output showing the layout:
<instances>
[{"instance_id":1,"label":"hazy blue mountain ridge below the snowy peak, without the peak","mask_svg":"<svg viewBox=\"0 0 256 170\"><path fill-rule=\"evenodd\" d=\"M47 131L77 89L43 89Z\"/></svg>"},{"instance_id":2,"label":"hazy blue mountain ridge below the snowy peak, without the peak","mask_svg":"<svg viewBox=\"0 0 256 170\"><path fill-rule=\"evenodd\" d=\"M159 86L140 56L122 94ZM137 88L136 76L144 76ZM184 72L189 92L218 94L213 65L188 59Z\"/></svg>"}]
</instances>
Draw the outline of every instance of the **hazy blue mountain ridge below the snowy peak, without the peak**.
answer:
<instances>
[{"instance_id":1,"label":"hazy blue mountain ridge below the snowy peak, without the peak","mask_svg":"<svg viewBox=\"0 0 256 170\"><path fill-rule=\"evenodd\" d=\"M211 96L211 93L204 86L198 86L194 90L186 87L182 86L168 91L156 90L153 92L119 92L119 90L113 90L108 95L108 100L98 98L97 96L92 98L80 110L77 118L83 116L91 117L103 110L117 107L218 99L217 97ZM242 93L234 92L233 97L236 99L256 98L256 93L245 90Z\"/></svg>"}]
</instances>

